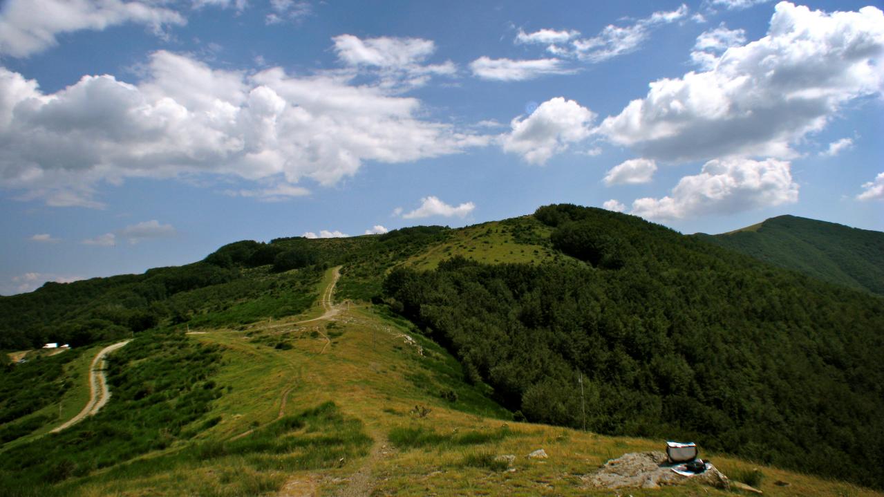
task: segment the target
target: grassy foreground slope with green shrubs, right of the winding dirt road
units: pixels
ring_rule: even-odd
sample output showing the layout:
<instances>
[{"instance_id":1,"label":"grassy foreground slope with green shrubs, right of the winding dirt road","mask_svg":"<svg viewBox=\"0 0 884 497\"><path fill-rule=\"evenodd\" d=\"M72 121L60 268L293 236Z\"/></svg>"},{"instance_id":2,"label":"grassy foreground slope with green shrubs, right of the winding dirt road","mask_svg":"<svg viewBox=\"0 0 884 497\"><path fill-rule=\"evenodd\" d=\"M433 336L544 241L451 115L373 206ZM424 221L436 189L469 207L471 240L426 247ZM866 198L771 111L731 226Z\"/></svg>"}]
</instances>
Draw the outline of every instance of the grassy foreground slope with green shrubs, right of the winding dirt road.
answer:
<instances>
[{"instance_id":1,"label":"grassy foreground slope with green shrubs, right of the winding dirt road","mask_svg":"<svg viewBox=\"0 0 884 497\"><path fill-rule=\"evenodd\" d=\"M302 318L139 333L111 356L103 411L0 449L0 494L601 496L612 491L584 475L662 445L514 422L489 386L464 382L453 356L384 306ZM537 448L549 457L526 457ZM514 455L512 470L496 455ZM758 468L768 495L880 495L703 455L731 476ZM629 493L732 494L697 485Z\"/></svg>"}]
</instances>

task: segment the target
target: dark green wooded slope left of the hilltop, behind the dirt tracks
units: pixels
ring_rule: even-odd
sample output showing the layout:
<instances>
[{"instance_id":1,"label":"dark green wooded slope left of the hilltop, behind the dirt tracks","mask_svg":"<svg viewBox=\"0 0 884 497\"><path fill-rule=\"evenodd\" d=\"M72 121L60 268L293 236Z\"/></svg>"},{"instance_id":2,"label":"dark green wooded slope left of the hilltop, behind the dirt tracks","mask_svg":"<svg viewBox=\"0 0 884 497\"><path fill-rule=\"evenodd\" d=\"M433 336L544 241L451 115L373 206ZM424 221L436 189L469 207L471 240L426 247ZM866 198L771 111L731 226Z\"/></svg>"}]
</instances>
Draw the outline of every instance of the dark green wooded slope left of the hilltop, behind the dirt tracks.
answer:
<instances>
[{"instance_id":1,"label":"dark green wooded slope left of the hilltop, behind the dirt tracks","mask_svg":"<svg viewBox=\"0 0 884 497\"><path fill-rule=\"evenodd\" d=\"M340 293L369 300L380 294L386 268L448 231L416 226L347 239L236 241L194 264L46 283L0 296L0 350L51 341L80 347L157 325L236 326L291 316L309 308L322 271L338 264L347 264Z\"/></svg>"}]
</instances>

